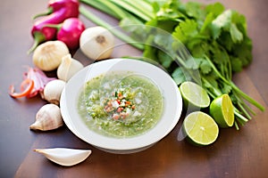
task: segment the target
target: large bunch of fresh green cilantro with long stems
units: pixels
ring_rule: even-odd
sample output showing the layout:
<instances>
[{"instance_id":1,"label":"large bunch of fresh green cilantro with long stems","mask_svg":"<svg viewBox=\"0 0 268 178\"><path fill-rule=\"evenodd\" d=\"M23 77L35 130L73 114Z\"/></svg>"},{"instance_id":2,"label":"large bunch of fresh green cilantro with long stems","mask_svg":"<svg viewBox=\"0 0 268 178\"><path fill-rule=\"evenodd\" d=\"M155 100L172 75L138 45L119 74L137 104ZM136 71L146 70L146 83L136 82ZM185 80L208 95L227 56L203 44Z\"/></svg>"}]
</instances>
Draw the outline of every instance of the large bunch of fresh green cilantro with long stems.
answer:
<instances>
[{"instance_id":1,"label":"large bunch of fresh green cilantro with long stems","mask_svg":"<svg viewBox=\"0 0 268 178\"><path fill-rule=\"evenodd\" d=\"M177 85L193 80L214 99L227 93L235 105L235 125L255 114L247 103L264 107L232 82L232 75L252 61L252 42L244 15L220 3L181 3L178 0L81 0L120 20L130 36L112 30L126 43L143 50L143 58L158 62ZM89 20L113 28L86 9Z\"/></svg>"}]
</instances>

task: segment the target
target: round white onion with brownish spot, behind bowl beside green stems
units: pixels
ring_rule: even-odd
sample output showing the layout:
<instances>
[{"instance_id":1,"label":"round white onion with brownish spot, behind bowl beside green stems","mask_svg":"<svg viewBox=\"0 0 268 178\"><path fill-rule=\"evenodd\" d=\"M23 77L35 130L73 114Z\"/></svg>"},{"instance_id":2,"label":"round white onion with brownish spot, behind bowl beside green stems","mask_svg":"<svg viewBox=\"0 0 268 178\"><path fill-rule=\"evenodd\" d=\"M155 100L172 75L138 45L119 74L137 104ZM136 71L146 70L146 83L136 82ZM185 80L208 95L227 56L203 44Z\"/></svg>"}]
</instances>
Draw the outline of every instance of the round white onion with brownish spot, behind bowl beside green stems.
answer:
<instances>
[{"instance_id":1,"label":"round white onion with brownish spot, behind bowl beside green stems","mask_svg":"<svg viewBox=\"0 0 268 178\"><path fill-rule=\"evenodd\" d=\"M80 49L89 59L104 60L113 53L115 38L106 28L85 29L80 36Z\"/></svg>"}]
</instances>

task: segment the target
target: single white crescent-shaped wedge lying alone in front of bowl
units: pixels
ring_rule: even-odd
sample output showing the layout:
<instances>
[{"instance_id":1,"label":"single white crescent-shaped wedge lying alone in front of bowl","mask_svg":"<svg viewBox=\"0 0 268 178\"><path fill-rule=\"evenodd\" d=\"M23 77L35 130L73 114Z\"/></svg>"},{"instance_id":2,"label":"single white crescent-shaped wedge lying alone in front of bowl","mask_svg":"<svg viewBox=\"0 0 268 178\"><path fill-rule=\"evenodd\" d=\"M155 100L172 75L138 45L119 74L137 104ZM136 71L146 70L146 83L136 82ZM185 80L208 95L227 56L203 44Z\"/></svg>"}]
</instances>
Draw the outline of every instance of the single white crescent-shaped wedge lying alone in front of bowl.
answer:
<instances>
[{"instance_id":1,"label":"single white crescent-shaped wedge lying alone in front of bowl","mask_svg":"<svg viewBox=\"0 0 268 178\"><path fill-rule=\"evenodd\" d=\"M36 149L38 153L62 166L74 166L84 161L91 154L91 150L74 150L64 148Z\"/></svg>"}]
</instances>

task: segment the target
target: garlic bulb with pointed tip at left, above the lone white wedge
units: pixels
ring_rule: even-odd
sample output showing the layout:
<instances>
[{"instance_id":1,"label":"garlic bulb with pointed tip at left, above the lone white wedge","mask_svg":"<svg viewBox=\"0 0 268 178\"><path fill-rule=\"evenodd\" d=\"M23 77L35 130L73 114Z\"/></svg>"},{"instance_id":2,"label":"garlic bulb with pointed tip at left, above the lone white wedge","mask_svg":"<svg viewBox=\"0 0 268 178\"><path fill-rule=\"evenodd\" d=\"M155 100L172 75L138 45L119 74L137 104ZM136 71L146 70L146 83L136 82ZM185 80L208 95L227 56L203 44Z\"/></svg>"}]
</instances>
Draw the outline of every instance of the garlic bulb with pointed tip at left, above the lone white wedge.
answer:
<instances>
[{"instance_id":1,"label":"garlic bulb with pointed tip at left, above the lone white wedge","mask_svg":"<svg viewBox=\"0 0 268 178\"><path fill-rule=\"evenodd\" d=\"M48 131L63 125L61 109L55 104L46 104L38 110L36 122L29 126L32 130Z\"/></svg>"}]
</instances>

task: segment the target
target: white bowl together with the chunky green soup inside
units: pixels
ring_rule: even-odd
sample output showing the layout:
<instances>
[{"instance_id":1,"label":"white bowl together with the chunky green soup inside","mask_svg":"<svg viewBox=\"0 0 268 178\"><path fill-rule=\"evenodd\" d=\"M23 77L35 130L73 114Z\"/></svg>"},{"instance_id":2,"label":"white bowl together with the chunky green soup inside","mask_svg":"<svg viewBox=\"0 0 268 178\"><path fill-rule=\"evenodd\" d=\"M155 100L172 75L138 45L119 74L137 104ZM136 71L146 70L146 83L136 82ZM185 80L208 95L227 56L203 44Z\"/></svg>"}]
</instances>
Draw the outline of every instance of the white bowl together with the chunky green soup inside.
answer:
<instances>
[{"instance_id":1,"label":"white bowl together with the chunky green soup inside","mask_svg":"<svg viewBox=\"0 0 268 178\"><path fill-rule=\"evenodd\" d=\"M84 142L107 152L145 150L177 125L178 86L145 61L97 61L71 77L60 102L64 123Z\"/></svg>"}]
</instances>

